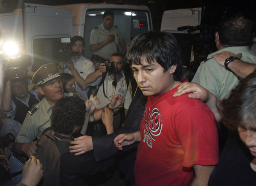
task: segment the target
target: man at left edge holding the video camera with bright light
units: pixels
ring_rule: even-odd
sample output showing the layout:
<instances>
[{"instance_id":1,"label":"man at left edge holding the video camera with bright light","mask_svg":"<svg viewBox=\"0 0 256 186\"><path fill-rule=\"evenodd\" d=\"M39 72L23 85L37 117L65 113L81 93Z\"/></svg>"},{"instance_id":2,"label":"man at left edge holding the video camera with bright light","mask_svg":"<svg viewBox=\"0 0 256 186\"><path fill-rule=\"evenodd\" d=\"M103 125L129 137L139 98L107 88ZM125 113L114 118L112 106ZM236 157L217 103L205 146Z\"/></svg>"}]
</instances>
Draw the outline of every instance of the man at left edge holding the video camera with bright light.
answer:
<instances>
[{"instance_id":1,"label":"man at left edge holding the video camera with bright light","mask_svg":"<svg viewBox=\"0 0 256 186\"><path fill-rule=\"evenodd\" d=\"M8 80L3 92L2 110L12 119L23 123L26 113L40 100L35 92L28 91L26 79Z\"/></svg>"}]
</instances>

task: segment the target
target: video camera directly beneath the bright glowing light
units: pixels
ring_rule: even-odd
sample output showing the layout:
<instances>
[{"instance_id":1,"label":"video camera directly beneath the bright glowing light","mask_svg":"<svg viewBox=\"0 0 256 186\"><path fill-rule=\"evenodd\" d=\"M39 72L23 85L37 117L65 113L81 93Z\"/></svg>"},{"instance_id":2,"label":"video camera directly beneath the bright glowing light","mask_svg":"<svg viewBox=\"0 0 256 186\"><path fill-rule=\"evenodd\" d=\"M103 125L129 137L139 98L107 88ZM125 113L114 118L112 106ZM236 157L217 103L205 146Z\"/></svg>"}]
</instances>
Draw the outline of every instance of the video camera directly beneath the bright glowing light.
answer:
<instances>
[{"instance_id":1,"label":"video camera directly beneath the bright glowing light","mask_svg":"<svg viewBox=\"0 0 256 186\"><path fill-rule=\"evenodd\" d=\"M26 78L26 68L31 65L31 56L15 56L4 60L4 74L10 80Z\"/></svg>"}]
</instances>

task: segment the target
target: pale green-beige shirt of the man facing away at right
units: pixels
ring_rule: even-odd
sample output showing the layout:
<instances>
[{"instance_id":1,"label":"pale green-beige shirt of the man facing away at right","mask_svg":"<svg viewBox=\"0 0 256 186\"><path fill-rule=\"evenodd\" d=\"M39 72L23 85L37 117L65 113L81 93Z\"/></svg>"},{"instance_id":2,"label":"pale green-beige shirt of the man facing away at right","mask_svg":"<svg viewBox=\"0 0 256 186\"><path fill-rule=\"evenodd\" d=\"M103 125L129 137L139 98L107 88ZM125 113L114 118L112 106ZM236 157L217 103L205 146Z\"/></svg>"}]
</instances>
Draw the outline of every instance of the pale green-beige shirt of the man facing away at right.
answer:
<instances>
[{"instance_id":1,"label":"pale green-beige shirt of the man facing away at right","mask_svg":"<svg viewBox=\"0 0 256 186\"><path fill-rule=\"evenodd\" d=\"M239 77L236 74L218 65L215 59L212 58L214 54L223 51L229 51L233 54L242 53L241 61L256 64L256 56L249 50L249 46L227 47L209 54L207 56L208 60L201 62L192 82L203 86L220 100L227 98L230 91L239 83Z\"/></svg>"}]
</instances>

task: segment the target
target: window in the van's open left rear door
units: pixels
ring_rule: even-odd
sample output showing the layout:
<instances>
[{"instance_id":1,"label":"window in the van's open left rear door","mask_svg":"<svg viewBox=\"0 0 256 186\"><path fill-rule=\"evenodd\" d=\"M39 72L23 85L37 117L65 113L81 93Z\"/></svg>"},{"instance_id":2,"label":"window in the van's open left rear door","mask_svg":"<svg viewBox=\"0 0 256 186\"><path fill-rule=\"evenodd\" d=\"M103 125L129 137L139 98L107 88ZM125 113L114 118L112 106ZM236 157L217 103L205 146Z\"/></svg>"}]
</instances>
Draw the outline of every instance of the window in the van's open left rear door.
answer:
<instances>
[{"instance_id":1,"label":"window in the van's open left rear door","mask_svg":"<svg viewBox=\"0 0 256 186\"><path fill-rule=\"evenodd\" d=\"M58 63L58 51L60 47L60 38L34 39L34 63L32 65L32 71L38 70L38 68L46 63Z\"/></svg>"}]
</instances>

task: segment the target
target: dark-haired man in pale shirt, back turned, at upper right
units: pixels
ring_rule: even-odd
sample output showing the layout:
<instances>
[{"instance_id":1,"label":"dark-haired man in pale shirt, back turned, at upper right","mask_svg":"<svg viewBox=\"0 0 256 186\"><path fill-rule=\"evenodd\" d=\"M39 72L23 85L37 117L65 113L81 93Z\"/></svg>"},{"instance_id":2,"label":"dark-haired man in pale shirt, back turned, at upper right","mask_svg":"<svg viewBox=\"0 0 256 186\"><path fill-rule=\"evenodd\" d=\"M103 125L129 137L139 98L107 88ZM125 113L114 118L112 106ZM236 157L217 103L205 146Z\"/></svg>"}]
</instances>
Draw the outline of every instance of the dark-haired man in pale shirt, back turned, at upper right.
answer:
<instances>
[{"instance_id":1,"label":"dark-haired man in pale shirt, back turned, at upper right","mask_svg":"<svg viewBox=\"0 0 256 186\"><path fill-rule=\"evenodd\" d=\"M214 54L229 51L233 54L241 53L241 60L256 63L256 56L250 51L249 44L254 33L253 20L244 14L236 14L221 20L215 34L215 43L218 51L209 54L207 60L199 66L192 82L198 83L218 99L229 96L230 91L239 82L238 76L227 68L221 67L212 58ZM232 62L231 59L230 62Z\"/></svg>"}]
</instances>

